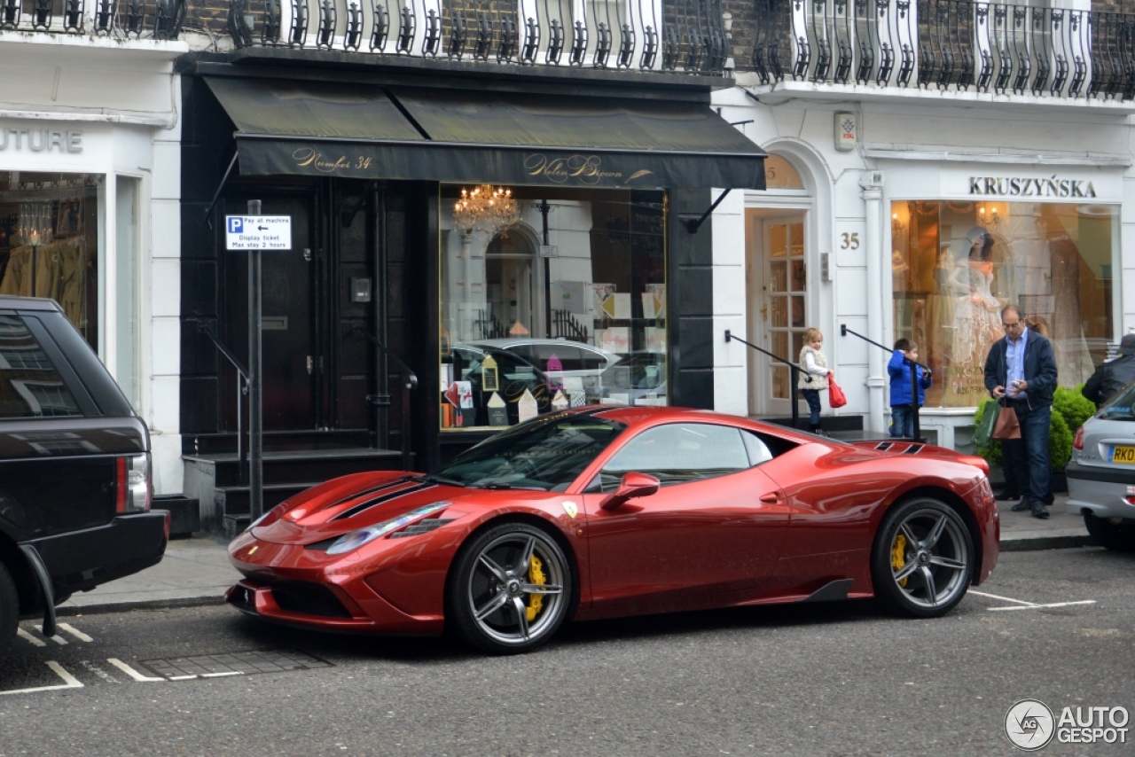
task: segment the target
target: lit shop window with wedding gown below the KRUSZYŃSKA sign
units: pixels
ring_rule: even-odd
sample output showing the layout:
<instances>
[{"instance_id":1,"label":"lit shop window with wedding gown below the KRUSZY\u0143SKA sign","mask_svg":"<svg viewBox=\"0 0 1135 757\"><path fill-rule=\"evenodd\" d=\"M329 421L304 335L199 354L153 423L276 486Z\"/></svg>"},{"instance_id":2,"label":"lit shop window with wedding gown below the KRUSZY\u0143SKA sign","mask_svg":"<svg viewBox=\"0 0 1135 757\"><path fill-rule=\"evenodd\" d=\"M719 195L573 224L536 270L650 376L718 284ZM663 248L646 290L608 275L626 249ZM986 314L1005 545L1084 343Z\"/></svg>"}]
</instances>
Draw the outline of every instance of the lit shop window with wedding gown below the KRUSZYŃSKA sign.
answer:
<instances>
[{"instance_id":1,"label":"lit shop window with wedding gown below the KRUSZY\u0143SKA sign","mask_svg":"<svg viewBox=\"0 0 1135 757\"><path fill-rule=\"evenodd\" d=\"M1103 204L892 203L894 336L933 370L926 404L989 396L985 356L1007 304L1052 340L1061 386L1087 380L1115 334L1118 224Z\"/></svg>"}]
</instances>

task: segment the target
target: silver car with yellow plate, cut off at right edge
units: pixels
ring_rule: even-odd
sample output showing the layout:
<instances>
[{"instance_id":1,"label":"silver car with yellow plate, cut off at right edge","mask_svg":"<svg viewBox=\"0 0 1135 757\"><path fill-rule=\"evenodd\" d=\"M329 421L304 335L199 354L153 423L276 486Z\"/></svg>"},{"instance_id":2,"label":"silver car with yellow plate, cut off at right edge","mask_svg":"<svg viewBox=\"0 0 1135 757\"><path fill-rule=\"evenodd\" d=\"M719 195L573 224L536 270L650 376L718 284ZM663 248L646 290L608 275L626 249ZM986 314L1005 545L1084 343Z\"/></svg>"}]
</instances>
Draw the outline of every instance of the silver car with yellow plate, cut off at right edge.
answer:
<instances>
[{"instance_id":1,"label":"silver car with yellow plate, cut off at right edge","mask_svg":"<svg viewBox=\"0 0 1135 757\"><path fill-rule=\"evenodd\" d=\"M1068 512L1083 513L1096 544L1135 550L1135 384L1077 429L1065 472Z\"/></svg>"}]
</instances>

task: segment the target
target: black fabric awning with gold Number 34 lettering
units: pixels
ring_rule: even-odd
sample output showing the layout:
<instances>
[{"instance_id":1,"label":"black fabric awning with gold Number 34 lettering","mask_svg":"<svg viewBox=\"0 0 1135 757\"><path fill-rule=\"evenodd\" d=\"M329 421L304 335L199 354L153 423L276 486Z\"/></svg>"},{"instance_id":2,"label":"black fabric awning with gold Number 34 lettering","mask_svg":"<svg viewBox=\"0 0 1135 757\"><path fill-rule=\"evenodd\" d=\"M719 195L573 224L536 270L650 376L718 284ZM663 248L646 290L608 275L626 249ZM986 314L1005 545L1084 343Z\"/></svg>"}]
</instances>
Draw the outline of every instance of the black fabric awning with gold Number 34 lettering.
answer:
<instances>
[{"instance_id":1,"label":"black fabric awning with gold Number 34 lettering","mask_svg":"<svg viewBox=\"0 0 1135 757\"><path fill-rule=\"evenodd\" d=\"M765 188L765 153L705 104L207 81L246 176Z\"/></svg>"}]
</instances>

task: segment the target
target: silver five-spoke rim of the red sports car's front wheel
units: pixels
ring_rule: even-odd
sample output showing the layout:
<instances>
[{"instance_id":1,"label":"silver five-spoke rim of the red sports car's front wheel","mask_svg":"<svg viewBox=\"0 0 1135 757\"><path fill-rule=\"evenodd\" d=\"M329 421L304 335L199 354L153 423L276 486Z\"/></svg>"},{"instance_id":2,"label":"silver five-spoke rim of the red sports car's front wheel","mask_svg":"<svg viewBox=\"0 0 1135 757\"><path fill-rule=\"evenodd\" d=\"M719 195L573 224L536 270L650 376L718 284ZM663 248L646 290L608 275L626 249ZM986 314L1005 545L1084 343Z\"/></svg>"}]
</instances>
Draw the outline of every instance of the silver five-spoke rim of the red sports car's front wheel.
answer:
<instances>
[{"instance_id":1,"label":"silver five-spoke rim of the red sports car's front wheel","mask_svg":"<svg viewBox=\"0 0 1135 757\"><path fill-rule=\"evenodd\" d=\"M464 588L473 622L502 645L538 640L558 625L566 571L563 553L548 537L518 531L493 539L477 554Z\"/></svg>"}]
</instances>

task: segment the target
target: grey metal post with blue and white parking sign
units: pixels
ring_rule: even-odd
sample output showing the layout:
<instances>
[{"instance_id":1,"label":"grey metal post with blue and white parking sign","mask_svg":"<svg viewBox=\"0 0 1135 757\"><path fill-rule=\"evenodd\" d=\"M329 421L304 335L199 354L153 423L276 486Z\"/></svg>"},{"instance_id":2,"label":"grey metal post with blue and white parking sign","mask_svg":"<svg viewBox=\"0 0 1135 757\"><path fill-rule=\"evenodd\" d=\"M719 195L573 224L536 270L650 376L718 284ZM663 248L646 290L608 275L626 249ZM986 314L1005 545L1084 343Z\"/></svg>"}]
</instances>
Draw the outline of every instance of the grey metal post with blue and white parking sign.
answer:
<instances>
[{"instance_id":1,"label":"grey metal post with blue and white parking sign","mask_svg":"<svg viewBox=\"0 0 1135 757\"><path fill-rule=\"evenodd\" d=\"M292 217L261 216L260 200L249 200L247 216L226 216L228 250L249 251L249 486L250 516L264 514L264 403L262 250L292 249Z\"/></svg>"}]
</instances>

